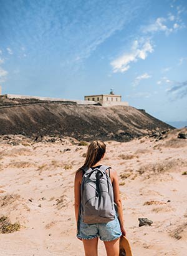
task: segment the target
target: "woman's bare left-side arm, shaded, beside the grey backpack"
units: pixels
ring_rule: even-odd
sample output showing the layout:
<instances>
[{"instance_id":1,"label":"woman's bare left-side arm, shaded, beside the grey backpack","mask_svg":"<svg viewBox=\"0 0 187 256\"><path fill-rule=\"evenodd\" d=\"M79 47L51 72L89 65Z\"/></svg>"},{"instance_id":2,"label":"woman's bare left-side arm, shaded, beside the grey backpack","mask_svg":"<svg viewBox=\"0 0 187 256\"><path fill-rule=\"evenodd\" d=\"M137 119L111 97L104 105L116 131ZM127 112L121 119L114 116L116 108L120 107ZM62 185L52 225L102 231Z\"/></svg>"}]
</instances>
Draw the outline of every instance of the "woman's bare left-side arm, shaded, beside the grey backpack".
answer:
<instances>
[{"instance_id":1,"label":"woman's bare left-side arm, shaded, beside the grey backpack","mask_svg":"<svg viewBox=\"0 0 187 256\"><path fill-rule=\"evenodd\" d=\"M75 180L74 180L74 207L75 207L76 224L77 224L78 218L79 218L81 180L82 180L82 172L78 171L75 174Z\"/></svg>"}]
</instances>

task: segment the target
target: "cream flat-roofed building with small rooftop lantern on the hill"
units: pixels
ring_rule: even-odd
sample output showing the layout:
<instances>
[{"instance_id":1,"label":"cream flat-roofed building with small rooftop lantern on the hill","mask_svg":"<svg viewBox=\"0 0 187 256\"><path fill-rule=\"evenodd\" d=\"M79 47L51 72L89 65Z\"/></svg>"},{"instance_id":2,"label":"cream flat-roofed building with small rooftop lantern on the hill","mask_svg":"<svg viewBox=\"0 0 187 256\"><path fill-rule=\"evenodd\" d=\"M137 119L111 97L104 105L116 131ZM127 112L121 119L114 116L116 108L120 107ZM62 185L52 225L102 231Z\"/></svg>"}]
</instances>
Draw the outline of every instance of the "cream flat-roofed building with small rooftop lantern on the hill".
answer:
<instances>
[{"instance_id":1,"label":"cream flat-roofed building with small rooftop lantern on the hill","mask_svg":"<svg viewBox=\"0 0 187 256\"><path fill-rule=\"evenodd\" d=\"M122 96L114 94L111 89L110 94L95 94L84 96L85 101L95 101L100 103L102 106L115 106L123 105L128 106L128 102L122 101Z\"/></svg>"}]
</instances>

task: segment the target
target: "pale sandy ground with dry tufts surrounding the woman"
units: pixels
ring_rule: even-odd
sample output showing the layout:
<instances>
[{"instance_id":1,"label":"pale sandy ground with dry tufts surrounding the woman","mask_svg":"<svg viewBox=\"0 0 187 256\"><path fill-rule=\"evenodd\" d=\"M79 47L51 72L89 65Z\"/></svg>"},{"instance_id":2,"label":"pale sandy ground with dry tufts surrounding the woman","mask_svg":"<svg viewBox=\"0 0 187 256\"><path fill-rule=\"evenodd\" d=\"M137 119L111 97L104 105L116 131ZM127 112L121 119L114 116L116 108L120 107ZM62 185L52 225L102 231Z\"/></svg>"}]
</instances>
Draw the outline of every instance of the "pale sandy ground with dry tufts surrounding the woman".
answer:
<instances>
[{"instance_id":1,"label":"pale sandy ground with dry tufts surrounding the woman","mask_svg":"<svg viewBox=\"0 0 187 256\"><path fill-rule=\"evenodd\" d=\"M176 139L178 132L158 142L107 142L103 164L118 172L134 256L187 255L187 175L182 175L187 171L187 139ZM22 225L20 231L0 234L1 256L84 255L75 237L74 174L87 147L71 141L1 142L0 217ZM139 217L153 225L138 227ZM102 242L98 252L106 255Z\"/></svg>"}]
</instances>

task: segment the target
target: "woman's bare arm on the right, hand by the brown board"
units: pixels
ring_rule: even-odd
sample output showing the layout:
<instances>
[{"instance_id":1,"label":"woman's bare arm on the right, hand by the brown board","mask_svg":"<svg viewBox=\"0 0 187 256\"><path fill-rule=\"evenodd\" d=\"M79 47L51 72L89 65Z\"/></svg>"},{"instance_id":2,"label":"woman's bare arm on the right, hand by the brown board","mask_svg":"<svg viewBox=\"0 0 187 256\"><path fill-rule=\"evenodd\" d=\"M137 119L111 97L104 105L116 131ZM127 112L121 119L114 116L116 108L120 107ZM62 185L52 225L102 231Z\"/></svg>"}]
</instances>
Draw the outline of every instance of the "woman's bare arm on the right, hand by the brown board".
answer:
<instances>
[{"instance_id":1,"label":"woman's bare arm on the right, hand by the brown board","mask_svg":"<svg viewBox=\"0 0 187 256\"><path fill-rule=\"evenodd\" d=\"M123 235L126 235L125 228L124 228L124 219L123 219L123 209L122 209L122 200L120 198L120 189L119 189L119 182L118 182L118 175L117 172L113 169L110 170L110 177L113 185L113 196L114 202L117 204L118 207L118 219L120 222L120 227Z\"/></svg>"}]
</instances>

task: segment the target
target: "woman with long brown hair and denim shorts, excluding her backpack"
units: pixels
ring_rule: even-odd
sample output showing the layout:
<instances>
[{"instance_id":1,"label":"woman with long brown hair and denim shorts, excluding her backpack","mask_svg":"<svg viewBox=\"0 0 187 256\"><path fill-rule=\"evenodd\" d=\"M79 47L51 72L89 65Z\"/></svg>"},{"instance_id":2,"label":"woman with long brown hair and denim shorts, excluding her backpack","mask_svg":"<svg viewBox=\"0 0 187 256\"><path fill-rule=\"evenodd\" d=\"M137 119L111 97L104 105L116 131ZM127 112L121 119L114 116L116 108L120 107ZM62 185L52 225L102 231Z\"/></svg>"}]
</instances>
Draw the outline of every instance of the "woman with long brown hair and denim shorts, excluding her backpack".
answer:
<instances>
[{"instance_id":1,"label":"woman with long brown hair and denim shorts, excluding her backpack","mask_svg":"<svg viewBox=\"0 0 187 256\"><path fill-rule=\"evenodd\" d=\"M77 170L75 174L75 218L77 223L77 238L82 240L84 244L85 256L97 256L98 237L103 240L107 256L119 255L119 240L121 235L126 235L123 226L123 211L122 201L120 199L119 185L117 172L113 169L106 170L109 175L113 187L113 199L117 205L118 218L115 214L115 219L107 223L86 224L83 222L81 215L81 193L80 187L84 169L96 168L102 165L102 160L105 156L106 145L102 141L95 140L90 143L87 150L87 156L84 165Z\"/></svg>"}]
</instances>

